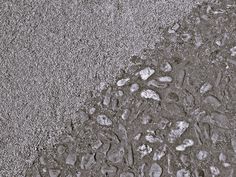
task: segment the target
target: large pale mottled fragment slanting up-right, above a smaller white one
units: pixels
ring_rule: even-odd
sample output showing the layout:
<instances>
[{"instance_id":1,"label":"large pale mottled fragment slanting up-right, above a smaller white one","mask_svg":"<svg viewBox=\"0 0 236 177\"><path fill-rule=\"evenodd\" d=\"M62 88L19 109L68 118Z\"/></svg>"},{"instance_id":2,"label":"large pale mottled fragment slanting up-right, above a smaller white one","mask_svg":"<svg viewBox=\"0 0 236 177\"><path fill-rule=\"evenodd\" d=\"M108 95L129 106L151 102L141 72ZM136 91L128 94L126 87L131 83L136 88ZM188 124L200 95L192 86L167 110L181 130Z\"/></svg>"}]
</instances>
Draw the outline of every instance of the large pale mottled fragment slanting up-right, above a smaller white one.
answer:
<instances>
[{"instance_id":1,"label":"large pale mottled fragment slanting up-right, above a smaller white one","mask_svg":"<svg viewBox=\"0 0 236 177\"><path fill-rule=\"evenodd\" d=\"M173 143L177 138L179 138L189 127L189 123L186 121L177 121L175 127L170 131L168 135L168 141Z\"/></svg>"}]
</instances>

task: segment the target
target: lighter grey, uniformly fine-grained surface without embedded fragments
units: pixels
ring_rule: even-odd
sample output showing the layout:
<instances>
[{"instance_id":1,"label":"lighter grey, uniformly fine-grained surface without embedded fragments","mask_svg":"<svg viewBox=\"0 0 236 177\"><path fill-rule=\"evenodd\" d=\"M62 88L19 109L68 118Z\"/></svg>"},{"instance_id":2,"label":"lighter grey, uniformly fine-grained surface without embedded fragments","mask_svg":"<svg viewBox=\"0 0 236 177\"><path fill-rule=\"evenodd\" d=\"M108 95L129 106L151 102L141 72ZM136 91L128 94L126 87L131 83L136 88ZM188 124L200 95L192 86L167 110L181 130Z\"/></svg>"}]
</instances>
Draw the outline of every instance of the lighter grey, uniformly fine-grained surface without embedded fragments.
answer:
<instances>
[{"instance_id":1,"label":"lighter grey, uniformly fine-grained surface without embedded fragments","mask_svg":"<svg viewBox=\"0 0 236 177\"><path fill-rule=\"evenodd\" d=\"M199 1L1 1L0 176L19 176L68 115Z\"/></svg>"}]
</instances>

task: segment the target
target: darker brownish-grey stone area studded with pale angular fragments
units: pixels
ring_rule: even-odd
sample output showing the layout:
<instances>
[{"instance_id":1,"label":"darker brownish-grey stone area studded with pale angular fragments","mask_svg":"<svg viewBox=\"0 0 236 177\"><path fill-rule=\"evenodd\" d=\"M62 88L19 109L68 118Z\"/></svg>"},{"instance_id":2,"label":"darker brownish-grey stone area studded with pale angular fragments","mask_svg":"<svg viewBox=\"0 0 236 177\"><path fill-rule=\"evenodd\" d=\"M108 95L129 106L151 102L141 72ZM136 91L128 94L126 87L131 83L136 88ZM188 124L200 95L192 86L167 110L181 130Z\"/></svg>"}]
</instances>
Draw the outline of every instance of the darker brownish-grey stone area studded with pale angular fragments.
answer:
<instances>
[{"instance_id":1,"label":"darker brownish-grey stone area studded with pale angular fragments","mask_svg":"<svg viewBox=\"0 0 236 177\"><path fill-rule=\"evenodd\" d=\"M69 116L26 176L235 176L236 3L226 2L167 29L145 60Z\"/></svg>"}]
</instances>

